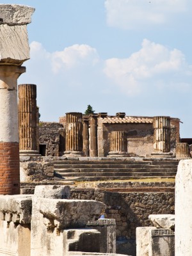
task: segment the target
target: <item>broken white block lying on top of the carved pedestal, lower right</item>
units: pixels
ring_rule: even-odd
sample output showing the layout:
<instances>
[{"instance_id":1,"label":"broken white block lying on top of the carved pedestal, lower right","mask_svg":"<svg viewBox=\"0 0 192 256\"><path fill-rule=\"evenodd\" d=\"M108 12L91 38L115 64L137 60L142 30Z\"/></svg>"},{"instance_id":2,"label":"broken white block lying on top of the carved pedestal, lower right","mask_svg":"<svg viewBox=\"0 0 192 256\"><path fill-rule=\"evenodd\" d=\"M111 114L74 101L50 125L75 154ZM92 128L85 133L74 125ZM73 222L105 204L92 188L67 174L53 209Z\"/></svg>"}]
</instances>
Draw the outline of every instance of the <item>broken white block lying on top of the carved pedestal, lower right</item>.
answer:
<instances>
[{"instance_id":1,"label":"broken white block lying on top of the carved pedestal, lower right","mask_svg":"<svg viewBox=\"0 0 192 256\"><path fill-rule=\"evenodd\" d=\"M175 228L175 215L174 214L151 214L148 220L157 228Z\"/></svg>"}]
</instances>

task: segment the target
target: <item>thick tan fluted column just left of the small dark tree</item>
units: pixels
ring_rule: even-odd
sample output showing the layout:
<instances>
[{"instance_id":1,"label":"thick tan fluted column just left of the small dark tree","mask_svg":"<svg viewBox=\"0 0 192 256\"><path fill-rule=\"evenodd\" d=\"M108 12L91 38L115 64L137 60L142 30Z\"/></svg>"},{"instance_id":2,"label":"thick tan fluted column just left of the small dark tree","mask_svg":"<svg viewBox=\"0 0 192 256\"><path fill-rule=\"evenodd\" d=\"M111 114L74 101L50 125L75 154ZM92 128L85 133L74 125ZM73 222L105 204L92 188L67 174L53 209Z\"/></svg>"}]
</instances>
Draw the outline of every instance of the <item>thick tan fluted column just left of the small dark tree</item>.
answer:
<instances>
[{"instance_id":1,"label":"thick tan fluted column just left of the small dark tree","mask_svg":"<svg viewBox=\"0 0 192 256\"><path fill-rule=\"evenodd\" d=\"M83 156L82 113L66 113L65 156Z\"/></svg>"}]
</instances>

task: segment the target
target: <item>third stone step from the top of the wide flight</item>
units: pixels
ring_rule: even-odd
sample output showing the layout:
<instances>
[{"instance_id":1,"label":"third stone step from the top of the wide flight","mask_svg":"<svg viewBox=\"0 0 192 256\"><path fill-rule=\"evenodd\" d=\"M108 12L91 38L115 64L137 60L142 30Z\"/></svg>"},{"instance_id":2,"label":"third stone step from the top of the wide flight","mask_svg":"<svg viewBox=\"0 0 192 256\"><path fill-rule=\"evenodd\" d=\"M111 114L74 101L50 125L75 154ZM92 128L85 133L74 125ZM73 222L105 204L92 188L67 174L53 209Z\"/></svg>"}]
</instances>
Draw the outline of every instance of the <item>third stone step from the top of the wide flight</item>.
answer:
<instances>
[{"instance_id":1,"label":"third stone step from the top of the wide flight","mask_svg":"<svg viewBox=\"0 0 192 256\"><path fill-rule=\"evenodd\" d=\"M87 168L63 168L63 169L54 169L54 172L57 173L73 173L73 172L99 172L99 173L104 173L104 172L175 172L177 173L177 168L163 168L163 169L159 169L159 168L126 168L126 169L122 169L122 168L92 168L92 169L87 169Z\"/></svg>"}]
</instances>

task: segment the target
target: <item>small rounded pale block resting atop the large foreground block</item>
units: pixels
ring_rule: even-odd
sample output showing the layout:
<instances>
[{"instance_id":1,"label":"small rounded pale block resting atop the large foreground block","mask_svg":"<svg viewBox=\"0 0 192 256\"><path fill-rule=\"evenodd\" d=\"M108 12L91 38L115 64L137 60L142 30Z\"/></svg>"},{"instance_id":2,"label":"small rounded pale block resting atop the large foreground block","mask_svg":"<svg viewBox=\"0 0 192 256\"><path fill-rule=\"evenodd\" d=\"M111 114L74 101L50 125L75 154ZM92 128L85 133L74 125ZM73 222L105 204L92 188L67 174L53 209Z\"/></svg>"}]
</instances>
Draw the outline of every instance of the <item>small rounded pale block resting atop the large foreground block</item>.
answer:
<instances>
[{"instance_id":1,"label":"small rounded pale block resting atop the large foreground block","mask_svg":"<svg viewBox=\"0 0 192 256\"><path fill-rule=\"evenodd\" d=\"M36 186L35 196L40 196L42 198L52 198L52 199L69 199L70 186L62 186L62 185Z\"/></svg>"}]
</instances>

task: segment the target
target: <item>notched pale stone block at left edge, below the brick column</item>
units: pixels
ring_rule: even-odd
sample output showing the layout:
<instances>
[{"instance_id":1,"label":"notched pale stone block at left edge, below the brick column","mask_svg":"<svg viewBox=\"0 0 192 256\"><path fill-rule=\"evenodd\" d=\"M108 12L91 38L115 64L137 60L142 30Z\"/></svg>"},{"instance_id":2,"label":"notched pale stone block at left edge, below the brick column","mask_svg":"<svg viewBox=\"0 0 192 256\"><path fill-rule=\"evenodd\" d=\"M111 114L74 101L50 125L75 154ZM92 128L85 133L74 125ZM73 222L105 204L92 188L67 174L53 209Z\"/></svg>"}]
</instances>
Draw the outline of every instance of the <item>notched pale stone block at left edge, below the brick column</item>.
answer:
<instances>
[{"instance_id":1,"label":"notched pale stone block at left edge, below the brick column","mask_svg":"<svg viewBox=\"0 0 192 256\"><path fill-rule=\"evenodd\" d=\"M32 196L0 196L1 220L13 221L14 223L31 223Z\"/></svg>"}]
</instances>

